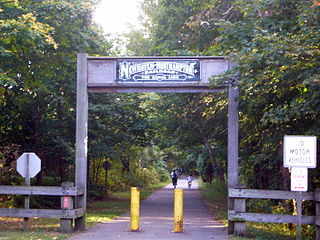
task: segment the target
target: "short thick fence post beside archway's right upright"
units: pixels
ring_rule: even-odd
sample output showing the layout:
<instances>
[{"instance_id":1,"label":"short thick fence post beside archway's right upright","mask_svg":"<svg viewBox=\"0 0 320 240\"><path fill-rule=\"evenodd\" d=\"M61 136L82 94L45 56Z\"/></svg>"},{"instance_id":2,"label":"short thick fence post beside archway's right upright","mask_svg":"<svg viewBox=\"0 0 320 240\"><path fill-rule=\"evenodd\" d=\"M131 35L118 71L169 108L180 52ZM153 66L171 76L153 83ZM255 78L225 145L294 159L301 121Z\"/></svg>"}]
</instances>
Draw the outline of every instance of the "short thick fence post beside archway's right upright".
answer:
<instances>
[{"instance_id":1,"label":"short thick fence post beside archway's right upright","mask_svg":"<svg viewBox=\"0 0 320 240\"><path fill-rule=\"evenodd\" d=\"M237 184L237 189L245 189L246 186L243 184ZM246 212L246 199L236 198L234 199L234 211L235 213L245 213ZM237 219L234 221L234 235L243 236L246 233L246 222L242 219Z\"/></svg>"}]
</instances>

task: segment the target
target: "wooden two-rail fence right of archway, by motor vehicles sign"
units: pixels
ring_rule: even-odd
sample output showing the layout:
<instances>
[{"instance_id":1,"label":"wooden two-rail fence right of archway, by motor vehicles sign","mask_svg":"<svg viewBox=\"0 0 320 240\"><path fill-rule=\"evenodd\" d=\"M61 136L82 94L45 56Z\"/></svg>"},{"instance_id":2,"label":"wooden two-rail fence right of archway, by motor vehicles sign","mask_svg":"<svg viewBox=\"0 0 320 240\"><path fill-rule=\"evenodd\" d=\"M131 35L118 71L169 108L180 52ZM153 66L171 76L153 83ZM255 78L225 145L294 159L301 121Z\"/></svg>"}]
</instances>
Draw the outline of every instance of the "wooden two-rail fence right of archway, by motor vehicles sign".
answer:
<instances>
[{"instance_id":1,"label":"wooden two-rail fence right of archway, by motor vehicles sign","mask_svg":"<svg viewBox=\"0 0 320 240\"><path fill-rule=\"evenodd\" d=\"M234 234L245 233L245 221L248 222L269 222L269 223L298 223L296 215L279 215L264 213L247 213L247 198L259 199L298 199L301 194L303 200L316 202L316 216L302 216L302 224L314 224L317 227L317 240L320 240L320 191L316 192L291 192L277 190L257 190L246 188L230 188L229 197L234 199L234 209L228 211L228 220L234 222Z\"/></svg>"}]
</instances>

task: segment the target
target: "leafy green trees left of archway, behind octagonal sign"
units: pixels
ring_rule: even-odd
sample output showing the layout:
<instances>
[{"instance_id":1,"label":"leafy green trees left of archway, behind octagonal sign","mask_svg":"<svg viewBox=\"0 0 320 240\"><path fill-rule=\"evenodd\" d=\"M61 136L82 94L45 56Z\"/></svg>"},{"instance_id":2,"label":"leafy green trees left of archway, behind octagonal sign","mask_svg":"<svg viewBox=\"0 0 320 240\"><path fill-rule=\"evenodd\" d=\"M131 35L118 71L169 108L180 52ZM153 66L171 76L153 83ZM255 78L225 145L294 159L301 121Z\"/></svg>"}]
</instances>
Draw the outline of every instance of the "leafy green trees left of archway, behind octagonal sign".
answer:
<instances>
[{"instance_id":1,"label":"leafy green trees left of archway, behind octagonal sign","mask_svg":"<svg viewBox=\"0 0 320 240\"><path fill-rule=\"evenodd\" d=\"M92 24L94 2L0 4L0 147L15 149L6 153L6 167L22 152L36 152L42 159L38 184L43 175L59 176L56 185L72 179L76 54L111 48Z\"/></svg>"}]
</instances>

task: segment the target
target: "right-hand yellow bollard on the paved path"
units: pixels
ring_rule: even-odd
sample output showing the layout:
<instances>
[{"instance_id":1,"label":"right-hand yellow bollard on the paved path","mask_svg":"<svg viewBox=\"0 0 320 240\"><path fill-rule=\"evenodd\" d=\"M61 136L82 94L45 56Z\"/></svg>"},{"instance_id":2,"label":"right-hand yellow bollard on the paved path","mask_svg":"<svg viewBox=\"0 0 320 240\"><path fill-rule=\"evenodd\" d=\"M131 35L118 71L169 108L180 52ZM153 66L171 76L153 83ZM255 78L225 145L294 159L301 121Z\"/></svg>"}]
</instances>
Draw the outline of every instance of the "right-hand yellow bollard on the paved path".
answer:
<instances>
[{"instance_id":1,"label":"right-hand yellow bollard on the paved path","mask_svg":"<svg viewBox=\"0 0 320 240\"><path fill-rule=\"evenodd\" d=\"M174 190L174 228L173 232L183 232L183 189Z\"/></svg>"}]
</instances>

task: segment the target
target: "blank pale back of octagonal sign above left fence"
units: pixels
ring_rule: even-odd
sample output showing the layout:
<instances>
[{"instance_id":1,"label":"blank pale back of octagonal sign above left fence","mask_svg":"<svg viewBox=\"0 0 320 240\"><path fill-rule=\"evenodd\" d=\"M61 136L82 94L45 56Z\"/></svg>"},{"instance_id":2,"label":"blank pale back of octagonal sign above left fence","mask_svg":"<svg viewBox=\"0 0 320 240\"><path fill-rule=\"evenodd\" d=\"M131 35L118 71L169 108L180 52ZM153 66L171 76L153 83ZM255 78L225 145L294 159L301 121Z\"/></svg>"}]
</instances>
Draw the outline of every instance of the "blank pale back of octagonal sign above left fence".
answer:
<instances>
[{"instance_id":1,"label":"blank pale back of octagonal sign above left fence","mask_svg":"<svg viewBox=\"0 0 320 240\"><path fill-rule=\"evenodd\" d=\"M35 177L41 169L41 159L35 153L23 153L17 160L17 171L22 177Z\"/></svg>"}]
</instances>

